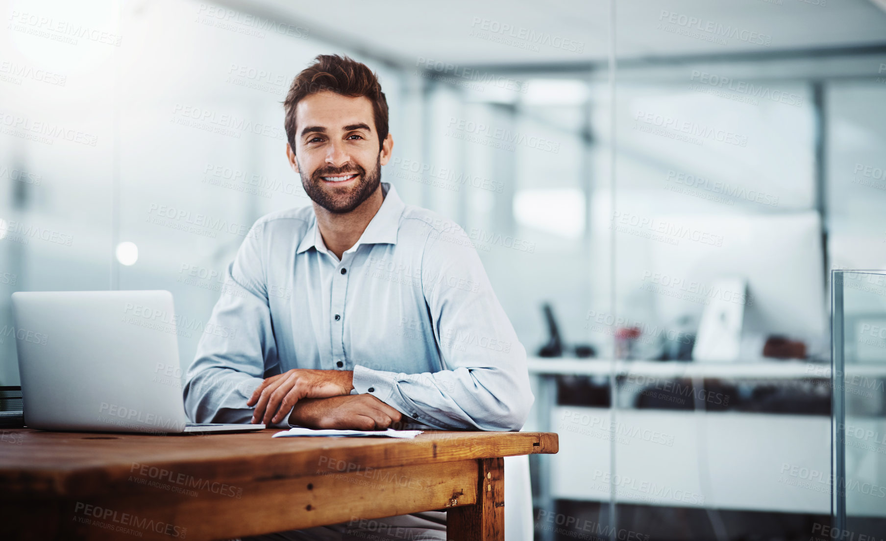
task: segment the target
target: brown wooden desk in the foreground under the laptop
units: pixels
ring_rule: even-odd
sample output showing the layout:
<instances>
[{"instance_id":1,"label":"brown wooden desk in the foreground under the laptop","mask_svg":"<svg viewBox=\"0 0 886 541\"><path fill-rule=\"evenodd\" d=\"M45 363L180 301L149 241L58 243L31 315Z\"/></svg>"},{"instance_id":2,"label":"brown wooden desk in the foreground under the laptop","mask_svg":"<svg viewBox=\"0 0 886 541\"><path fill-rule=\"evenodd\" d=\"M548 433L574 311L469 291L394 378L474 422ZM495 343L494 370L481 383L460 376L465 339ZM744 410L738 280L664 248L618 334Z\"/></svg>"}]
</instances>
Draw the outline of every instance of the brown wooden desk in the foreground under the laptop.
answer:
<instances>
[{"instance_id":1,"label":"brown wooden desk in the foreground under the laptop","mask_svg":"<svg viewBox=\"0 0 886 541\"><path fill-rule=\"evenodd\" d=\"M272 439L276 431L4 430L0 537L229 539L442 509L449 539L501 541L502 457L558 445L543 432Z\"/></svg>"}]
</instances>

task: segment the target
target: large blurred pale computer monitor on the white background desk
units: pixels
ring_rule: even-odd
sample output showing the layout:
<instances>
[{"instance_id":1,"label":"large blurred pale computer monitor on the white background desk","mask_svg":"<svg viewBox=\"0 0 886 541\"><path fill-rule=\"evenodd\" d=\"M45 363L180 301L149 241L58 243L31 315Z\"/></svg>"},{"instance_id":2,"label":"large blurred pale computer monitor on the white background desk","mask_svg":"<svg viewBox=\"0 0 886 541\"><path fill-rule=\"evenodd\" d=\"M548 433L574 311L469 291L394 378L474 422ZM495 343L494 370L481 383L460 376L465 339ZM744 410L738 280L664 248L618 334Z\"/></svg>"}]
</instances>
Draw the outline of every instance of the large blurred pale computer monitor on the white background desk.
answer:
<instances>
[{"instance_id":1,"label":"large blurred pale computer monitor on the white background desk","mask_svg":"<svg viewBox=\"0 0 886 541\"><path fill-rule=\"evenodd\" d=\"M658 220L692 232L676 244L652 243L652 268L644 280L661 282L655 285L664 294L653 297L664 324L686 315L698 321L705 305L719 297L744 304L742 335L757 339L756 356L766 336L821 343L827 325L818 213L684 214ZM747 291L716 289L719 279L732 277L747 280Z\"/></svg>"}]
</instances>

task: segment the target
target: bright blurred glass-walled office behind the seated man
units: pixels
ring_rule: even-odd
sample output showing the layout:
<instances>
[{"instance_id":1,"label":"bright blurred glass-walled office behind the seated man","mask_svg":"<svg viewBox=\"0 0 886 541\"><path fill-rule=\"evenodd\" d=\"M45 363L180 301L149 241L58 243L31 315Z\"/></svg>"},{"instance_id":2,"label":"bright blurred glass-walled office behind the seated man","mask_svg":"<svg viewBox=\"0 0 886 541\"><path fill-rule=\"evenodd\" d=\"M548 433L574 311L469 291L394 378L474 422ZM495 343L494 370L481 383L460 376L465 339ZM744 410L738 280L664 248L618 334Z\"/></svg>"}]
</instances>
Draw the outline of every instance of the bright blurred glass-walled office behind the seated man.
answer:
<instances>
[{"instance_id":1,"label":"bright blurred glass-walled office behind the seated man","mask_svg":"<svg viewBox=\"0 0 886 541\"><path fill-rule=\"evenodd\" d=\"M383 181L468 231L531 355L535 537L886 537L886 280L845 282L836 384L828 311L886 268L882 0L2 5L0 383L16 290L171 290L187 367L246 228L309 204L291 79L347 54Z\"/></svg>"}]
</instances>

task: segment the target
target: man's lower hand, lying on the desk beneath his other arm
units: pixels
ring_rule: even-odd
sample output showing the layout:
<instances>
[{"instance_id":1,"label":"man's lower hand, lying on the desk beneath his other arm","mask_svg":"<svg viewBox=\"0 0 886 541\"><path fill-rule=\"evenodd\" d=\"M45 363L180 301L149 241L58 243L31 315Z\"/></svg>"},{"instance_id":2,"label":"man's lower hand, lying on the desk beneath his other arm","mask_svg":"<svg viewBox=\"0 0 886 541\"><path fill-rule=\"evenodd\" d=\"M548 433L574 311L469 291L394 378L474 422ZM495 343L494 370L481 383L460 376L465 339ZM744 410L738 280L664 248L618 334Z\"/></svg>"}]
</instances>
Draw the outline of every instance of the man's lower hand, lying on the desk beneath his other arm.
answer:
<instances>
[{"instance_id":1,"label":"man's lower hand, lying on the desk beneath his other arm","mask_svg":"<svg viewBox=\"0 0 886 541\"><path fill-rule=\"evenodd\" d=\"M383 430L399 423L401 417L378 398L362 394L301 400L289 421L312 429Z\"/></svg>"}]
</instances>

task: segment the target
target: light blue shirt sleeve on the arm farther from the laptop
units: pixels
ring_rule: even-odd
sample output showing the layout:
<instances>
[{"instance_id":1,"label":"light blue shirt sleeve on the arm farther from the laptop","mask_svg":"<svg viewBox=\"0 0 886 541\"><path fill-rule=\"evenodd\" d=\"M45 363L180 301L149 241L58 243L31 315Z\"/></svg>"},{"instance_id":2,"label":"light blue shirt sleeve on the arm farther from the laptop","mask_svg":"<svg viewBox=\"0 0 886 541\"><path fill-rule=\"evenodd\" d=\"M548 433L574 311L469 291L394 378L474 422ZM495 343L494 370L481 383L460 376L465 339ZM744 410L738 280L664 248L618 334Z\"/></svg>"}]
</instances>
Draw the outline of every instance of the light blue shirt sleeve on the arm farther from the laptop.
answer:
<instances>
[{"instance_id":1,"label":"light blue shirt sleeve on the arm farther from the laptop","mask_svg":"<svg viewBox=\"0 0 886 541\"><path fill-rule=\"evenodd\" d=\"M462 228L431 230L421 277L444 369L406 374L358 365L354 392L431 428L519 430L534 399L525 348Z\"/></svg>"}]
</instances>

